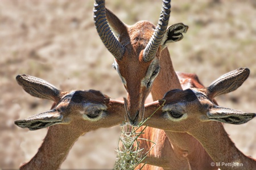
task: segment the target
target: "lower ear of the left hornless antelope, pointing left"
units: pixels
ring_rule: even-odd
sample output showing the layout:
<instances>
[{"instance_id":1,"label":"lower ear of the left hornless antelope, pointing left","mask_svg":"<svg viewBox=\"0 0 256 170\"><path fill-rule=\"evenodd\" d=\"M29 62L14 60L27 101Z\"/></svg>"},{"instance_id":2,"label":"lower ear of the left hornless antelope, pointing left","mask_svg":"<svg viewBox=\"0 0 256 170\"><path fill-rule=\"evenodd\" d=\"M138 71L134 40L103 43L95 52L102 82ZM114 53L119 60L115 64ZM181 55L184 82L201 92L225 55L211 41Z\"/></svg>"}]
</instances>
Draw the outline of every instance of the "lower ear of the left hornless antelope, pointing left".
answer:
<instances>
[{"instance_id":1,"label":"lower ear of the left hornless antelope, pointing left","mask_svg":"<svg viewBox=\"0 0 256 170\"><path fill-rule=\"evenodd\" d=\"M35 116L25 120L18 120L14 123L20 128L38 130L55 124L60 124L62 120L63 116L60 114L60 112L56 111L56 109L52 109L51 111L36 114Z\"/></svg>"}]
</instances>

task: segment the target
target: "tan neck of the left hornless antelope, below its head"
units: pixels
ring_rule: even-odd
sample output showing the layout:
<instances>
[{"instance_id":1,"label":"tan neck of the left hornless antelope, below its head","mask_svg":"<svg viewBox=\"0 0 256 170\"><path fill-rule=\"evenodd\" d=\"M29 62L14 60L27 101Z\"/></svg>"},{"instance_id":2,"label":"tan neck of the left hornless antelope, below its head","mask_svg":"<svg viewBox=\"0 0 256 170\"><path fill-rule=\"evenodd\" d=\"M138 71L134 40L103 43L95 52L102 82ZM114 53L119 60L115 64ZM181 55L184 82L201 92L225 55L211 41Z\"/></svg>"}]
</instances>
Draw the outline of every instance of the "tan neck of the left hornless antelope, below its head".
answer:
<instances>
[{"instance_id":1,"label":"tan neck of the left hornless antelope, below its head","mask_svg":"<svg viewBox=\"0 0 256 170\"><path fill-rule=\"evenodd\" d=\"M20 169L58 169L82 131L69 125L50 126L36 155Z\"/></svg>"}]
</instances>

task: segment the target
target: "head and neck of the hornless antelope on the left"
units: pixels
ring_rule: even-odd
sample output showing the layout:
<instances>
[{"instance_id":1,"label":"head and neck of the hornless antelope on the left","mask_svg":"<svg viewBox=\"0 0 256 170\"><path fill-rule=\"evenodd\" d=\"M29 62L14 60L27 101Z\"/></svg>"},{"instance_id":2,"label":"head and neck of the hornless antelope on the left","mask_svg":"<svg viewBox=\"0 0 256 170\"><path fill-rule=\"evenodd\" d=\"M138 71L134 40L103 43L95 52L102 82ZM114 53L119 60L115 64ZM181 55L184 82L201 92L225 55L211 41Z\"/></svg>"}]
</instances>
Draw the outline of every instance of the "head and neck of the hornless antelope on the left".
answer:
<instances>
[{"instance_id":1,"label":"head and neck of the hornless antelope on the left","mask_svg":"<svg viewBox=\"0 0 256 170\"><path fill-rule=\"evenodd\" d=\"M55 114L62 116L61 122L59 120L57 122L59 125L49 127L46 138L36 155L20 169L58 169L81 135L98 128L109 128L125 121L123 102L109 99L99 91L62 92L44 80L32 76L18 75L16 79L29 94L54 100L52 109L56 111ZM89 118L85 115L90 114L87 112L88 109L91 112L93 110L90 110L90 107L84 107L86 104L95 107L94 111L97 111L97 107L101 105L104 105L106 109L98 117ZM39 122L39 129L44 128L40 122L55 121L50 113L52 112L44 112L26 120L15 121L15 124L22 128L31 128L31 126L33 128ZM49 116L44 118L44 115Z\"/></svg>"}]
</instances>

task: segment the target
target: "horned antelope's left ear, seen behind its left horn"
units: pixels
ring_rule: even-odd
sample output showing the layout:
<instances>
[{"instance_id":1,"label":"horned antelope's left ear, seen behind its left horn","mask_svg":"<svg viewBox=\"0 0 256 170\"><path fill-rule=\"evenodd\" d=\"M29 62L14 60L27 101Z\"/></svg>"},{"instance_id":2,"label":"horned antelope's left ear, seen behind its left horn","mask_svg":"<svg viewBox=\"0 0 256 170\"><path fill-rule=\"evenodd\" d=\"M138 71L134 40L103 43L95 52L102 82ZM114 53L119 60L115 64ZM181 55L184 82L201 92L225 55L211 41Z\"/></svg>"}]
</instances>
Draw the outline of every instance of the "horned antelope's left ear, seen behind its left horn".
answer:
<instances>
[{"instance_id":1,"label":"horned antelope's left ear, seen behind its left horn","mask_svg":"<svg viewBox=\"0 0 256 170\"><path fill-rule=\"evenodd\" d=\"M106 8L106 19L109 27L114 32L114 35L118 37L121 33L127 33L126 24L123 23L112 11Z\"/></svg>"}]
</instances>

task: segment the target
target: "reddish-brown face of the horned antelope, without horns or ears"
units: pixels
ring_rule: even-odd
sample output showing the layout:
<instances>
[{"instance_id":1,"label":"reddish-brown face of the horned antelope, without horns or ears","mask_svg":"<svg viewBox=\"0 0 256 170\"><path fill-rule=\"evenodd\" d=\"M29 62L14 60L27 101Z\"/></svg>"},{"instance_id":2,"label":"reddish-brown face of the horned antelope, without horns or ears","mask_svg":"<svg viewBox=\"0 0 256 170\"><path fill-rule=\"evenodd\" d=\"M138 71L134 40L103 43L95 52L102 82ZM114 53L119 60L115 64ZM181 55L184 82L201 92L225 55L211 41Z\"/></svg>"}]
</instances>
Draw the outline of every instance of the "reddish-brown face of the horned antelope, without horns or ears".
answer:
<instances>
[{"instance_id":1,"label":"reddish-brown face of the horned antelope, without horns or ears","mask_svg":"<svg viewBox=\"0 0 256 170\"><path fill-rule=\"evenodd\" d=\"M143 28L143 25L147 27ZM122 59L114 60L113 67L117 70L127 91L126 115L130 124L137 125L143 118L144 101L160 71L159 55L148 62L143 59L144 48L154 32L153 24L140 22L127 29L130 32L129 39L123 38L122 35L118 37L119 42L124 44L126 52ZM151 34L146 35L148 32Z\"/></svg>"}]
</instances>

